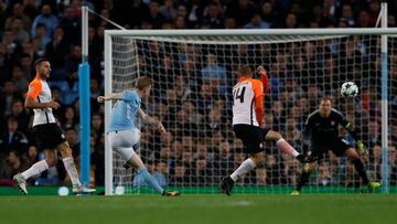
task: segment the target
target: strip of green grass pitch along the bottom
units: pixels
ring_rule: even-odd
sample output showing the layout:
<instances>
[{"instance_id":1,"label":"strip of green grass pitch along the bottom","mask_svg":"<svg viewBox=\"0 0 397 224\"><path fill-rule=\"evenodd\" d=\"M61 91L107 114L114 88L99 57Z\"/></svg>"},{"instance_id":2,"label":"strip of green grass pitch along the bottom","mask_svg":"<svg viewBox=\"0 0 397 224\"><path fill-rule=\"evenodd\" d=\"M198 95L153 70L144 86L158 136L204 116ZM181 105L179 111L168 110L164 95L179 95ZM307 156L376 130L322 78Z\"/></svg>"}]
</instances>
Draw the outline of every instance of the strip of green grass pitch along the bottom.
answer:
<instances>
[{"instance_id":1,"label":"strip of green grass pitch along the bottom","mask_svg":"<svg viewBox=\"0 0 397 224\"><path fill-rule=\"evenodd\" d=\"M388 224L397 194L0 196L1 224Z\"/></svg>"}]
</instances>

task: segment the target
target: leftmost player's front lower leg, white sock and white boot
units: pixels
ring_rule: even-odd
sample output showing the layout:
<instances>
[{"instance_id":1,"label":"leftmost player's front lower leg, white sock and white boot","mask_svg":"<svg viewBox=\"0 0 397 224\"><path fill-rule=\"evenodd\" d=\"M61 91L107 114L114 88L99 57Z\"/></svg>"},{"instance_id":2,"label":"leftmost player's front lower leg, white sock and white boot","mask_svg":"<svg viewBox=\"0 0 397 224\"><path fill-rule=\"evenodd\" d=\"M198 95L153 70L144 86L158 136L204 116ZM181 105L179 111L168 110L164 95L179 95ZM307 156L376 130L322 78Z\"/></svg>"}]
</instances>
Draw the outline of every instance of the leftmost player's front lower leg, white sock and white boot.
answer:
<instances>
[{"instance_id":1,"label":"leftmost player's front lower leg, white sock and white boot","mask_svg":"<svg viewBox=\"0 0 397 224\"><path fill-rule=\"evenodd\" d=\"M76 164L72 157L72 149L69 148L68 143L66 141L60 143L56 149L61 152L65 170L71 177L73 193L79 195L95 192L95 189L89 189L85 185L82 185L82 183L79 182Z\"/></svg>"}]
</instances>

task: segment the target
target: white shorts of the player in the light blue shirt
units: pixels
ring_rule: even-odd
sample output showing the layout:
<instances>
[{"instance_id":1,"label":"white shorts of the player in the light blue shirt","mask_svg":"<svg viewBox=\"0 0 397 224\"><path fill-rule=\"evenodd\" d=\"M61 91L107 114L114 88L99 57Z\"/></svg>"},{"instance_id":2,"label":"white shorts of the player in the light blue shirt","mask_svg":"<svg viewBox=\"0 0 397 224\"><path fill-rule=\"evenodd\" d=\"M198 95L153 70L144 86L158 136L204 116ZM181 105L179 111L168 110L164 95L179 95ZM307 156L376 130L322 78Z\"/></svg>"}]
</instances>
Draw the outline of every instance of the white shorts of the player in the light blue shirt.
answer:
<instances>
[{"instance_id":1,"label":"white shorts of the player in the light blue shirt","mask_svg":"<svg viewBox=\"0 0 397 224\"><path fill-rule=\"evenodd\" d=\"M108 137L111 149L128 161L135 154L132 147L139 142L140 130L135 128L130 130L111 131L108 132Z\"/></svg>"}]
</instances>

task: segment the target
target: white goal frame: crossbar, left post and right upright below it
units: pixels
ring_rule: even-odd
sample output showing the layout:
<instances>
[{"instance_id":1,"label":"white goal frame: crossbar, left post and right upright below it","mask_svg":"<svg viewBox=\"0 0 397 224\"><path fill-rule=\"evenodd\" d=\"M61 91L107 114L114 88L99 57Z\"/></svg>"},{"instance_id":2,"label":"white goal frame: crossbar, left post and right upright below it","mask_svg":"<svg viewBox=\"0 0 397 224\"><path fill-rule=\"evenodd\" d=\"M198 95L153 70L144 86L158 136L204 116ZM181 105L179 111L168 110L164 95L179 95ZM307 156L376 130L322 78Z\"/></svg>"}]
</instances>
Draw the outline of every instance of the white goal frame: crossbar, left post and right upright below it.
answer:
<instances>
[{"instance_id":1,"label":"white goal frame: crossbar, left post and right upright below it","mask_svg":"<svg viewBox=\"0 0 397 224\"><path fill-rule=\"evenodd\" d=\"M382 154L388 161L387 146L387 35L397 35L397 28L371 29L240 29L240 30L106 30L105 31L105 94L111 93L111 38L112 36L244 36L244 35L382 35ZM111 102L105 103L105 130L108 129ZM387 173L387 162L383 162L383 173ZM105 136L105 194L114 194L112 151ZM383 193L388 193L387 175L383 175Z\"/></svg>"}]
</instances>

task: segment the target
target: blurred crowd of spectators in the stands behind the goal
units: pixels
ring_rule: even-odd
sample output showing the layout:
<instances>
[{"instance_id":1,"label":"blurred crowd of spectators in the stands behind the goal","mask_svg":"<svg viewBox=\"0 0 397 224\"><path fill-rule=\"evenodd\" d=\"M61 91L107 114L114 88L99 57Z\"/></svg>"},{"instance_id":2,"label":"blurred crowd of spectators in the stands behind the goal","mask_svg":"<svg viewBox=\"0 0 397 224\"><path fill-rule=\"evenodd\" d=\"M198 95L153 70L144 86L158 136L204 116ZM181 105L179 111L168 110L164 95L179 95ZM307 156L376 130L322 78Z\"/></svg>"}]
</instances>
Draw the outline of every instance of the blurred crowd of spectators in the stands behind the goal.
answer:
<instances>
[{"instance_id":1,"label":"blurred crowd of spectators in the stands behind the goal","mask_svg":"<svg viewBox=\"0 0 397 224\"><path fill-rule=\"evenodd\" d=\"M294 29L374 28L379 0L0 0L0 185L43 159L31 135L33 111L23 106L33 62L50 58L55 111L78 164L78 64L82 61L81 6L126 29ZM388 25L396 26L397 3L389 2ZM92 183L104 185L104 31L116 29L89 15ZM226 41L226 40L225 40ZM137 67L155 82L153 97L143 105L168 128L165 139L142 127L139 153L163 185L216 185L245 159L233 137L230 88L242 64L265 65L271 94L266 97L264 124L280 131L307 152L301 132L307 116L323 95L335 96L335 108L357 127L371 156L366 167L379 180L380 54L374 36L335 38L283 44L201 45L138 41ZM397 40L389 38L389 179L397 184ZM230 56L233 55L233 56ZM136 62L131 62L136 63ZM355 99L341 98L341 81L361 88ZM341 130L341 135L345 135ZM348 141L353 139L346 136ZM298 161L269 145L265 166L240 183L293 184ZM121 172L121 171L120 171ZM122 171L124 172L124 171ZM130 175L142 185L139 175ZM62 162L31 181L37 185L68 184ZM357 185L360 178L345 158L329 154L312 183Z\"/></svg>"}]
</instances>

